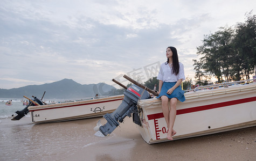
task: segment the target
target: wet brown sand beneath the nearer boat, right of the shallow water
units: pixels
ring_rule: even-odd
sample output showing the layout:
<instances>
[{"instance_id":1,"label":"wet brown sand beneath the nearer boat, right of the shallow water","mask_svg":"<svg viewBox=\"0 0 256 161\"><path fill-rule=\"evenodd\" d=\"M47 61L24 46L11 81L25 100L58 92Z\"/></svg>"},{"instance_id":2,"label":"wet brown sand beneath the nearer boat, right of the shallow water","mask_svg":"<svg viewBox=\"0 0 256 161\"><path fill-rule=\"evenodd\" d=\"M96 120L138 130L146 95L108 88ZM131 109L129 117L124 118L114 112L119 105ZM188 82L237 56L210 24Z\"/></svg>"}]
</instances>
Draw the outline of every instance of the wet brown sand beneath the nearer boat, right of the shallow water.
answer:
<instances>
[{"instance_id":1,"label":"wet brown sand beneath the nearer boat, right of the shallow water","mask_svg":"<svg viewBox=\"0 0 256 161\"><path fill-rule=\"evenodd\" d=\"M88 145L64 160L72 158L75 160L254 160L256 158L256 126L148 144L129 118L113 133L114 136L108 140Z\"/></svg>"}]
</instances>

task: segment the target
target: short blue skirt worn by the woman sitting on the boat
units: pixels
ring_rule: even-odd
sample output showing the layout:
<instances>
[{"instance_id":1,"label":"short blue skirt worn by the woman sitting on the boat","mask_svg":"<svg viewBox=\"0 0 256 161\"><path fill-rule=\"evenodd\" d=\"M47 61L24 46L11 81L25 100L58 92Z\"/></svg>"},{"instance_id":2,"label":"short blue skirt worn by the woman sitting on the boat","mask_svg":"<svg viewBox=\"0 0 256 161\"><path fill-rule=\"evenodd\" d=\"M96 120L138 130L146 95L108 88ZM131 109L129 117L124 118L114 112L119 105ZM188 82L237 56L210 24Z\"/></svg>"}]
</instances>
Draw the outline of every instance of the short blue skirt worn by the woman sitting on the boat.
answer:
<instances>
[{"instance_id":1,"label":"short blue skirt worn by the woman sitting on the boat","mask_svg":"<svg viewBox=\"0 0 256 161\"><path fill-rule=\"evenodd\" d=\"M181 85L179 85L171 94L167 94L166 92L173 87L176 84L176 82L164 82L161 92L158 97L160 98L161 96L167 96L168 98L177 98L179 101L184 102L185 97L184 97L184 91L181 89Z\"/></svg>"}]
</instances>

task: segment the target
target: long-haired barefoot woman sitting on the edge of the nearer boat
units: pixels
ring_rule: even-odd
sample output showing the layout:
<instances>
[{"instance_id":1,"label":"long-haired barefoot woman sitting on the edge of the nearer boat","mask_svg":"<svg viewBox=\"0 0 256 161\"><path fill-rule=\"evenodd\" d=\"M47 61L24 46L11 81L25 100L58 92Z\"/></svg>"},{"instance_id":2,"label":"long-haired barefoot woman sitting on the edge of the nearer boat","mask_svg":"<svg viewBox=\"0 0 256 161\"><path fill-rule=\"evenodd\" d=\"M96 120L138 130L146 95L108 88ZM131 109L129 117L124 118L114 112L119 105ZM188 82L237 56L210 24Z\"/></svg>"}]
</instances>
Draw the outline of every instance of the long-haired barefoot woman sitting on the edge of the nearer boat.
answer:
<instances>
[{"instance_id":1,"label":"long-haired barefoot woman sitting on the edge of the nearer boat","mask_svg":"<svg viewBox=\"0 0 256 161\"><path fill-rule=\"evenodd\" d=\"M166 49L167 62L161 64L157 79L159 80L159 96L162 100L162 111L167 123L167 138L173 140L176 134L173 129L176 118L177 101L185 101L184 91L181 88L182 80L185 79L184 66L178 61L177 49L168 47ZM168 101L170 100L170 109Z\"/></svg>"}]
</instances>

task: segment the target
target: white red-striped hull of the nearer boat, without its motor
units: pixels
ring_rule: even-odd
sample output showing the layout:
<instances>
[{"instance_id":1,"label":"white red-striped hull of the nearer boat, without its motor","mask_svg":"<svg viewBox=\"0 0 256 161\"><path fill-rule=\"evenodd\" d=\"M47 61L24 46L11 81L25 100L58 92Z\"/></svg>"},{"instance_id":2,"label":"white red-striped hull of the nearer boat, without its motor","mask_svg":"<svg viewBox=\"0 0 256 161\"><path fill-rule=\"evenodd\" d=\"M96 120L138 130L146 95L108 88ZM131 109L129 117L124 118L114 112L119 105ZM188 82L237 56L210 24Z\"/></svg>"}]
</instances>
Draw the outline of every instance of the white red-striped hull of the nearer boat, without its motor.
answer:
<instances>
[{"instance_id":1,"label":"white red-striped hull of the nearer boat, without its motor","mask_svg":"<svg viewBox=\"0 0 256 161\"><path fill-rule=\"evenodd\" d=\"M222 87L184 94L177 103L174 140L256 126L256 84ZM161 99L139 101L139 126L143 139L151 143L169 141Z\"/></svg>"}]
</instances>

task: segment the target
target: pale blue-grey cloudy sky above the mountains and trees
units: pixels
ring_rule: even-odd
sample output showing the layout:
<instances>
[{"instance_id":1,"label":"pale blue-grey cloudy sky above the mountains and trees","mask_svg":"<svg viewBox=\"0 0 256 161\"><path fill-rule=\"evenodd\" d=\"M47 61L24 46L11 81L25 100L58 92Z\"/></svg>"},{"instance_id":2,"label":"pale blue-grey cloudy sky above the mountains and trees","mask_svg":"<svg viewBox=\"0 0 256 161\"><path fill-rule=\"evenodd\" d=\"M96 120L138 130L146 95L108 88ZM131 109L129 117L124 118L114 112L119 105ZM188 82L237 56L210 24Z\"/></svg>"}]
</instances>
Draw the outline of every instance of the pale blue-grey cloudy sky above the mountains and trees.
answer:
<instances>
[{"instance_id":1,"label":"pale blue-grey cloudy sky above the mountains and trees","mask_svg":"<svg viewBox=\"0 0 256 161\"><path fill-rule=\"evenodd\" d=\"M52 83L119 88L123 75L144 82L177 48L185 77L204 35L244 23L256 1L1 0L0 89Z\"/></svg>"}]
</instances>

